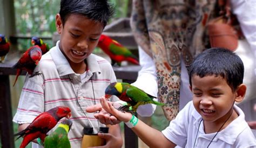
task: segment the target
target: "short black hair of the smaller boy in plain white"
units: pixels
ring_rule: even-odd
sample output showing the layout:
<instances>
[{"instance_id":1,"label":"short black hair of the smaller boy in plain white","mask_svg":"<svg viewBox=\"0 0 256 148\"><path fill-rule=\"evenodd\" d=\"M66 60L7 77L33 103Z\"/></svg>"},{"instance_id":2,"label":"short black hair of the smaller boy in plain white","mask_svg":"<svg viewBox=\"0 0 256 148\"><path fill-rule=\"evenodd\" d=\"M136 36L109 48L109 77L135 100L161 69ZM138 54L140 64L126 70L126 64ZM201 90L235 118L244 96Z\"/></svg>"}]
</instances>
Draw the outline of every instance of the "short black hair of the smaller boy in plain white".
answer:
<instances>
[{"instance_id":1,"label":"short black hair of the smaller boy in plain white","mask_svg":"<svg viewBox=\"0 0 256 148\"><path fill-rule=\"evenodd\" d=\"M244 78L244 64L235 53L224 48L210 48L200 53L188 67L190 79L193 75L200 77L215 75L226 79L228 86L235 91Z\"/></svg>"}]
</instances>

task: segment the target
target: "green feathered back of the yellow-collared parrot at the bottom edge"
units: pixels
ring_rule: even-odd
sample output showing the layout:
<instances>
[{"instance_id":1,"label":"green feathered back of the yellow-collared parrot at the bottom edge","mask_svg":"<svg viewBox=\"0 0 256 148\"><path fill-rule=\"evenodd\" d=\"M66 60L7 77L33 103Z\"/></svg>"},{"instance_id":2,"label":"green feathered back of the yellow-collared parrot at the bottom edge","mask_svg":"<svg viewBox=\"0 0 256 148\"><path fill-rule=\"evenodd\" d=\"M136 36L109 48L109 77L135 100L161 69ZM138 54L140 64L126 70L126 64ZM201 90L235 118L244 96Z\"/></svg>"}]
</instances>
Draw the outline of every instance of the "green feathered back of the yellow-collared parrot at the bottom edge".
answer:
<instances>
[{"instance_id":1,"label":"green feathered back of the yellow-collared parrot at the bottom edge","mask_svg":"<svg viewBox=\"0 0 256 148\"><path fill-rule=\"evenodd\" d=\"M66 130L63 128L57 128L49 136L45 137L44 147L70 148L71 145Z\"/></svg>"}]
</instances>

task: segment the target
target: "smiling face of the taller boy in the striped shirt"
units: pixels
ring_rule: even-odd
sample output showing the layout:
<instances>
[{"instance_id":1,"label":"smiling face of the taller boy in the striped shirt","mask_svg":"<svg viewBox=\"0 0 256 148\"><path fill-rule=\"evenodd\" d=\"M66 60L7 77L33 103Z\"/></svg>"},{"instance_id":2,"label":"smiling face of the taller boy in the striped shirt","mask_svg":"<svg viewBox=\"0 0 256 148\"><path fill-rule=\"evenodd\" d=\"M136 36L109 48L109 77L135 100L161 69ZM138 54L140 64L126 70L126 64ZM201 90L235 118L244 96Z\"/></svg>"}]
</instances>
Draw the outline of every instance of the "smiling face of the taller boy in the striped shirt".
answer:
<instances>
[{"instance_id":1,"label":"smiling face of the taller boy in the striped shirt","mask_svg":"<svg viewBox=\"0 0 256 148\"><path fill-rule=\"evenodd\" d=\"M71 14L63 25L56 16L57 31L60 34L59 48L70 65L84 64L98 44L103 24L82 15Z\"/></svg>"}]
</instances>

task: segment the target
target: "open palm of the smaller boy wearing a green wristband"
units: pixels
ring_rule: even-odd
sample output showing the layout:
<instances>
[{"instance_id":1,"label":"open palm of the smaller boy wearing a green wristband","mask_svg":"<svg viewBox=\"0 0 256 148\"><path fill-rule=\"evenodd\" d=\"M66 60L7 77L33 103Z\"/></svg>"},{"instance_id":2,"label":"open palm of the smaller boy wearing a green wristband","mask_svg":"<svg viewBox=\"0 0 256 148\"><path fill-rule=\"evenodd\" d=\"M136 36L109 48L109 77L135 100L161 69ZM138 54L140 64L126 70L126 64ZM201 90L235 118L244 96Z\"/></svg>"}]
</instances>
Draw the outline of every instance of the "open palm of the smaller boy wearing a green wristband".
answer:
<instances>
[{"instance_id":1,"label":"open palm of the smaller boy wearing a green wristband","mask_svg":"<svg viewBox=\"0 0 256 148\"><path fill-rule=\"evenodd\" d=\"M109 112L111 115L115 116L119 121L128 122L132 118L131 113L117 110L113 107L111 102L106 101L105 97L100 98L100 103L106 112Z\"/></svg>"}]
</instances>

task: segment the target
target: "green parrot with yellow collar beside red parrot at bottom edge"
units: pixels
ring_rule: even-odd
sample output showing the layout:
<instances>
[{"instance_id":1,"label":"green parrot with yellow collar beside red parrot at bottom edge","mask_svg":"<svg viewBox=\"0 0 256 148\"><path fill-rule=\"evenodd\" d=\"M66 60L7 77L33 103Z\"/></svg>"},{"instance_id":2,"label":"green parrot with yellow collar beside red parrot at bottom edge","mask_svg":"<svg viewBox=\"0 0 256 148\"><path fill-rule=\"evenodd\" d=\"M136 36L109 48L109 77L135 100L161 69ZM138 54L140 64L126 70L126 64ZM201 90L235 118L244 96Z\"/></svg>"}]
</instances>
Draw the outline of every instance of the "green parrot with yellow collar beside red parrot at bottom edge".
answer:
<instances>
[{"instance_id":1,"label":"green parrot with yellow collar beside red parrot at bottom edge","mask_svg":"<svg viewBox=\"0 0 256 148\"><path fill-rule=\"evenodd\" d=\"M55 131L45 137L44 148L70 148L68 133L71 126L72 121L69 119L62 121Z\"/></svg>"}]
</instances>

